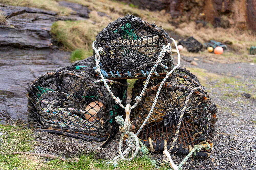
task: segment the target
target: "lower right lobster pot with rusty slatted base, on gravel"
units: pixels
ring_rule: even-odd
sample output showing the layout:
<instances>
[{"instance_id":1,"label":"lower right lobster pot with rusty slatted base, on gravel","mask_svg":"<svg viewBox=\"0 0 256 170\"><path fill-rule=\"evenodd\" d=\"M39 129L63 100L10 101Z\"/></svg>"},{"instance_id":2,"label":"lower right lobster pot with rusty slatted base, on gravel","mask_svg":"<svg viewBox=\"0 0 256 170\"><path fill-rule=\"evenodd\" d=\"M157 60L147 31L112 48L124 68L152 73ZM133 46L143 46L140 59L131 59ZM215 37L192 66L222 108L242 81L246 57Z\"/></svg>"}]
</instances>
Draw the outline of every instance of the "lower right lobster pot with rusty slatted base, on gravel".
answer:
<instances>
[{"instance_id":1,"label":"lower right lobster pot with rusty slatted base, on gravel","mask_svg":"<svg viewBox=\"0 0 256 170\"><path fill-rule=\"evenodd\" d=\"M132 132L137 132L150 112L161 81L162 79L150 80L142 101L131 115ZM141 93L143 86L143 80L137 80L134 87L138 88L133 89L133 99ZM196 87L198 89L189 95ZM217 109L203 89L193 74L178 68L163 84L155 108L138 135L141 141L150 147L151 151L168 150L173 144L176 131L179 130L176 145L172 149L176 154L188 154L197 144L212 143ZM183 108L184 116L180 128L177 129ZM211 151L201 150L196 152L196 156L206 158L210 153Z\"/></svg>"}]
</instances>

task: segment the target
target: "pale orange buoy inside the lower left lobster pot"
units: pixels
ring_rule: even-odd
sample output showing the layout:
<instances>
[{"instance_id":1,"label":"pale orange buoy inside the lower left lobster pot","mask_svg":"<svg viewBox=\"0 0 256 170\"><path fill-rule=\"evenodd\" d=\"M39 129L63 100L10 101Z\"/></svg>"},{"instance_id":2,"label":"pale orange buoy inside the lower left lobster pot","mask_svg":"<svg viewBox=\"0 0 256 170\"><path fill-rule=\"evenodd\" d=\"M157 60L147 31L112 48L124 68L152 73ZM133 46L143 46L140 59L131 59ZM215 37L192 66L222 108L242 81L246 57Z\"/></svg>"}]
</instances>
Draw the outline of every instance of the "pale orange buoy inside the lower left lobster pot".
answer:
<instances>
[{"instance_id":1,"label":"pale orange buoy inside the lower left lobster pot","mask_svg":"<svg viewBox=\"0 0 256 170\"><path fill-rule=\"evenodd\" d=\"M97 105L98 103L98 105ZM90 114L84 114L84 117L86 119L88 119L90 122L93 122L95 119L94 119L94 116L96 116L97 112L100 111L100 108L103 106L102 102L100 101L93 101L91 103L88 104L88 106L85 108L85 110L88 111L88 113ZM93 117L92 117L93 116Z\"/></svg>"}]
</instances>

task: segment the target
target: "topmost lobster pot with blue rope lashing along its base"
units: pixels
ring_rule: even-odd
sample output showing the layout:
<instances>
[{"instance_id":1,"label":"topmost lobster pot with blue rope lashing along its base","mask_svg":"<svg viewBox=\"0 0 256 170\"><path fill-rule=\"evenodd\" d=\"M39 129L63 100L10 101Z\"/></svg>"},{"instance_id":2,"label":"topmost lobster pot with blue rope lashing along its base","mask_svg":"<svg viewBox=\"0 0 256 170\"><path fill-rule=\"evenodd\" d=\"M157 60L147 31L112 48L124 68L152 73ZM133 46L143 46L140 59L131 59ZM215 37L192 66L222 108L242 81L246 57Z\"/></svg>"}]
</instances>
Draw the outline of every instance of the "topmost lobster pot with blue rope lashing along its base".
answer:
<instances>
[{"instance_id":1,"label":"topmost lobster pot with blue rope lashing along its base","mask_svg":"<svg viewBox=\"0 0 256 170\"><path fill-rule=\"evenodd\" d=\"M103 76L108 79L147 77L157 62L161 48L167 45L168 38L170 37L162 28L133 15L109 23L96 36L95 42L96 48L103 48L100 53ZM157 66L153 77L162 77L173 68L173 58L168 53L163 57L162 63L169 68L165 70Z\"/></svg>"}]
</instances>

